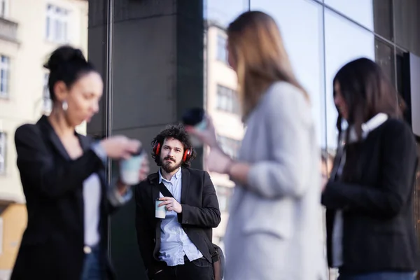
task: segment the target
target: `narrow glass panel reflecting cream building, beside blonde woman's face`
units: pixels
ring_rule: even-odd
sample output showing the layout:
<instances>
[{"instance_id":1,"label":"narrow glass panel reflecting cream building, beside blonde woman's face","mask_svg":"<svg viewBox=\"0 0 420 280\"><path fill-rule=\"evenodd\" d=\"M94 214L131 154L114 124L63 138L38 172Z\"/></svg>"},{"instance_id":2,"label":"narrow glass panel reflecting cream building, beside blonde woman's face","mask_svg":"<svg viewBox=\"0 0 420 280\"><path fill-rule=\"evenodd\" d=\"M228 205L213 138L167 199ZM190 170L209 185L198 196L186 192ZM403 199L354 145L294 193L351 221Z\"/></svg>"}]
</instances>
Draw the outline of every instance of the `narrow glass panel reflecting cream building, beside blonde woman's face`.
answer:
<instances>
[{"instance_id":1,"label":"narrow glass panel reflecting cream building, beside blonde woman's face","mask_svg":"<svg viewBox=\"0 0 420 280\"><path fill-rule=\"evenodd\" d=\"M249 10L248 0L204 0L204 108L213 118L223 150L236 155L244 135L237 100L237 76L228 65L226 28L238 15ZM221 224L213 241L223 248L228 205L234 183L228 176L211 173L221 206ZM221 191L223 190L223 192Z\"/></svg>"}]
</instances>

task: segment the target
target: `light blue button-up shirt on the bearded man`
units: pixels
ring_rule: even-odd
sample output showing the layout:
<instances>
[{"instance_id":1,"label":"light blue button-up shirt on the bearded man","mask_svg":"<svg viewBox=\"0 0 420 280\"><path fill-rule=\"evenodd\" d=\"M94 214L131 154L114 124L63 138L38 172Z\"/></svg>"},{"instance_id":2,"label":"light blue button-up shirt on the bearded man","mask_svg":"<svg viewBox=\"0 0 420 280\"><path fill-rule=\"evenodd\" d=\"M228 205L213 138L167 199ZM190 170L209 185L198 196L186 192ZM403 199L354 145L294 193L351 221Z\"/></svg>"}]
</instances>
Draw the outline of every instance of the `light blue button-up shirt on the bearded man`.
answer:
<instances>
[{"instance_id":1,"label":"light blue button-up shirt on the bearded man","mask_svg":"<svg viewBox=\"0 0 420 280\"><path fill-rule=\"evenodd\" d=\"M167 187L177 202L181 201L182 173L181 168L172 176L170 181L162 177L159 170L159 183ZM160 193L160 197L163 197ZM178 222L178 214L175 211L167 211L166 218L160 225L160 260L167 263L169 267L184 264L184 255L188 260L193 261L202 258L202 253L184 232Z\"/></svg>"}]
</instances>

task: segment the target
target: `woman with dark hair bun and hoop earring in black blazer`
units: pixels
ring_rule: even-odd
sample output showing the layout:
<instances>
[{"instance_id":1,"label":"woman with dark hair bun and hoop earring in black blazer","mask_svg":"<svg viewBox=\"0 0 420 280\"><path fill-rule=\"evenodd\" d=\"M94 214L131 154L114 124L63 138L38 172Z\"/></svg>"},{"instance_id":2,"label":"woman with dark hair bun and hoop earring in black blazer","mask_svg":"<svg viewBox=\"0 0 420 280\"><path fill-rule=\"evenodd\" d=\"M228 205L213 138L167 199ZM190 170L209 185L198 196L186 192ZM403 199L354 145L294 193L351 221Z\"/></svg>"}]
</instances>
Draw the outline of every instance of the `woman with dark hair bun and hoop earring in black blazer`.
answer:
<instances>
[{"instance_id":1,"label":"woman with dark hair bun and hoop earring in black blazer","mask_svg":"<svg viewBox=\"0 0 420 280\"><path fill-rule=\"evenodd\" d=\"M45 67L53 108L15 132L28 223L11 276L20 279L113 279L107 216L132 196L106 183L106 157L130 158L141 144L116 136L94 142L75 132L99 110L102 78L80 50L58 48ZM148 173L148 162L139 179Z\"/></svg>"}]
</instances>

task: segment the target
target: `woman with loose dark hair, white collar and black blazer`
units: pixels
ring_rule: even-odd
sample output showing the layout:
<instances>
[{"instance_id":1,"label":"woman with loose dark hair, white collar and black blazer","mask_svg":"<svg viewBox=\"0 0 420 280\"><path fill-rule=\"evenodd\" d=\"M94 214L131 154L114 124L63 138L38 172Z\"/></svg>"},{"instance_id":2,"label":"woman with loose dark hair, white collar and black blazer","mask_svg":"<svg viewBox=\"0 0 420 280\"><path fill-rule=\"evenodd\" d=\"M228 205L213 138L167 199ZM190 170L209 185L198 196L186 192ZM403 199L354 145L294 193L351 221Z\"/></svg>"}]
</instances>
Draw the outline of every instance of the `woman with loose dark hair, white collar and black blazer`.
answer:
<instances>
[{"instance_id":1,"label":"woman with loose dark hair, white collar and black blazer","mask_svg":"<svg viewBox=\"0 0 420 280\"><path fill-rule=\"evenodd\" d=\"M413 280L416 144L397 94L365 58L343 66L333 86L339 147L322 195L329 265L339 280Z\"/></svg>"}]
</instances>

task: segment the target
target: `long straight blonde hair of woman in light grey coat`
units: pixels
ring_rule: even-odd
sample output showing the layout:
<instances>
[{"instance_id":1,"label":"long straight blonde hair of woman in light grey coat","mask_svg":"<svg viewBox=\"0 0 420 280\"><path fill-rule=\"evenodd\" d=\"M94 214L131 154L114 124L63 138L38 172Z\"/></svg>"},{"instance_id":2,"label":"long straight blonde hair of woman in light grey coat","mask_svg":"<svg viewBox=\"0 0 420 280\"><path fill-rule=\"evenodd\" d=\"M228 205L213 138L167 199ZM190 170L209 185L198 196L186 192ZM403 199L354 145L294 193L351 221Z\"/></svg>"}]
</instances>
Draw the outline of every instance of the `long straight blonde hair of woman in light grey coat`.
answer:
<instances>
[{"instance_id":1,"label":"long straight blonde hair of woman in light grey coat","mask_svg":"<svg viewBox=\"0 0 420 280\"><path fill-rule=\"evenodd\" d=\"M235 61L244 118L276 81L295 85L309 100L307 92L295 78L279 28L266 13L249 11L231 22L228 50Z\"/></svg>"}]
</instances>

